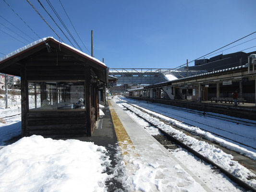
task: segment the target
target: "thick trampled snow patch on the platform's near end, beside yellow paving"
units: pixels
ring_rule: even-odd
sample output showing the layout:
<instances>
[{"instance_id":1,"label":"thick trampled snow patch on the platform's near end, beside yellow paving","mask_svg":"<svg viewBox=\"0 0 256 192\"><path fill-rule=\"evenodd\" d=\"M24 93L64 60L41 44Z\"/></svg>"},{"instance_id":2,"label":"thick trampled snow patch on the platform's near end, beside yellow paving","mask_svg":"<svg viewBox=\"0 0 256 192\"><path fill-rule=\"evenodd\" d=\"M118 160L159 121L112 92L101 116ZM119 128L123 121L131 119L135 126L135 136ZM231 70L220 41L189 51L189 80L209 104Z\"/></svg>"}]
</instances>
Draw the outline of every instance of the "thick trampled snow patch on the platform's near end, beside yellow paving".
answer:
<instances>
[{"instance_id":1,"label":"thick trampled snow patch on the platform's near end, beside yellow paving","mask_svg":"<svg viewBox=\"0 0 256 192\"><path fill-rule=\"evenodd\" d=\"M122 145L122 143L121 143ZM127 145L126 145L127 146ZM144 145L143 145L144 146ZM132 192L202 192L205 191L170 156L161 152L158 144L148 144L145 148L127 146L122 148L125 174L122 183ZM150 155L149 155L150 154ZM175 162L175 163L173 163Z\"/></svg>"}]
</instances>

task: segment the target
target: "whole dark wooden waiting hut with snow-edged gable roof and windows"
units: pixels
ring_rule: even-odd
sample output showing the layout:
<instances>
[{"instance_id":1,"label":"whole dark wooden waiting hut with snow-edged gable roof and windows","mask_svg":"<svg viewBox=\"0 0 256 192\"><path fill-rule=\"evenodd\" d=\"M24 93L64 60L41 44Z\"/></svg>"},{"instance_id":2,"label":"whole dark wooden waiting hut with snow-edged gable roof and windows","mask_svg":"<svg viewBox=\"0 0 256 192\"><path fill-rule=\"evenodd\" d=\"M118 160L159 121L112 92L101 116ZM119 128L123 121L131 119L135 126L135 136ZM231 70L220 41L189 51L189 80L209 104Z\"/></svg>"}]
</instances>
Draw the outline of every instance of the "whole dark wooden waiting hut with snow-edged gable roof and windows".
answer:
<instances>
[{"instance_id":1,"label":"whole dark wooden waiting hut with snow-edged gable roof and windows","mask_svg":"<svg viewBox=\"0 0 256 192\"><path fill-rule=\"evenodd\" d=\"M21 77L22 136L91 136L99 117L101 61L55 40L40 39L0 59L0 72Z\"/></svg>"}]
</instances>

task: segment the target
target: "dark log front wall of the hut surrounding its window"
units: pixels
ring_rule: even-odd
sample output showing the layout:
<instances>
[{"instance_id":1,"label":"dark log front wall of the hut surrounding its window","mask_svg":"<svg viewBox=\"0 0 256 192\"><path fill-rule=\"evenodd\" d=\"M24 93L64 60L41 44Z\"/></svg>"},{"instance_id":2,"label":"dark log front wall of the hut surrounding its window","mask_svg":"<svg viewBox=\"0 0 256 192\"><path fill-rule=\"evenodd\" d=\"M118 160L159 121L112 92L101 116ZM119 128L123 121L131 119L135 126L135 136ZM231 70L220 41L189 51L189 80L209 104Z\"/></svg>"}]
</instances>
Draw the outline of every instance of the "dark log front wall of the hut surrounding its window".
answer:
<instances>
[{"instance_id":1,"label":"dark log front wall of the hut surrounding its window","mask_svg":"<svg viewBox=\"0 0 256 192\"><path fill-rule=\"evenodd\" d=\"M88 70L88 66L85 63L77 63L75 59L68 56L59 54L57 61L56 52L40 53L35 59L32 57L25 62L24 65L24 86L27 86L28 82L60 82L60 81L84 81L86 82L85 70ZM90 87L91 84L85 83L85 100L91 99L91 94L86 96L86 86ZM42 86L45 89L45 86ZM95 89L95 87L93 88ZM26 90L26 98L24 98L24 105L28 103L28 91ZM35 89L37 90L37 88ZM24 93L25 94L25 93ZM46 99L44 92L40 94L41 101ZM50 95L50 98L57 95ZM36 98L36 97L35 97ZM36 100L36 99L35 99ZM49 99L51 102L51 99ZM95 99L94 99L95 100ZM91 105L91 103L90 103ZM95 111L89 114L90 119L87 120L87 110L82 111L31 111L26 108L23 117L23 135L30 136L33 134L43 135L51 138L61 137L81 137L92 135L95 128ZM93 110L93 108L91 108Z\"/></svg>"}]
</instances>

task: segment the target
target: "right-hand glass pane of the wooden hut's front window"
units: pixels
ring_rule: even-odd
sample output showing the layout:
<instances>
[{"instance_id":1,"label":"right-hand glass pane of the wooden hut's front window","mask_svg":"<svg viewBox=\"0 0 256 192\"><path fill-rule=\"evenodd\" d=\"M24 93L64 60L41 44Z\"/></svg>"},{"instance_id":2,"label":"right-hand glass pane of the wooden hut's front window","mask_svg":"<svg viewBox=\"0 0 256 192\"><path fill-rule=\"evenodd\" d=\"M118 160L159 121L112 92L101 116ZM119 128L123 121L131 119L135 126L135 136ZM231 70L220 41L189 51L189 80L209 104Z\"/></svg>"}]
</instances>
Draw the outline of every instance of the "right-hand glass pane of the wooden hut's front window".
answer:
<instances>
[{"instance_id":1,"label":"right-hand glass pane of the wooden hut's front window","mask_svg":"<svg viewBox=\"0 0 256 192\"><path fill-rule=\"evenodd\" d=\"M58 82L58 109L85 109L85 82Z\"/></svg>"}]
</instances>

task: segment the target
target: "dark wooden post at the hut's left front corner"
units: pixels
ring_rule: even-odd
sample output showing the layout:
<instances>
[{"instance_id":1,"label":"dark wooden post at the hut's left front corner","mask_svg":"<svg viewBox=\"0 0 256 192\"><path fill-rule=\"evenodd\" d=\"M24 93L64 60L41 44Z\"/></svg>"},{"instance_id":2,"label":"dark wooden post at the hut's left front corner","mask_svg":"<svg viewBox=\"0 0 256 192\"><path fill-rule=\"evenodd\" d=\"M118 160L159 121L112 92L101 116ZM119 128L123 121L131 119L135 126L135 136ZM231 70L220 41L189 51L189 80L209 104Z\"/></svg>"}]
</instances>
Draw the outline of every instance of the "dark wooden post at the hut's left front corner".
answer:
<instances>
[{"instance_id":1,"label":"dark wooden post at the hut's left front corner","mask_svg":"<svg viewBox=\"0 0 256 192\"><path fill-rule=\"evenodd\" d=\"M21 131L22 137L27 136L28 113L28 84L26 80L26 68L21 65Z\"/></svg>"}]
</instances>

